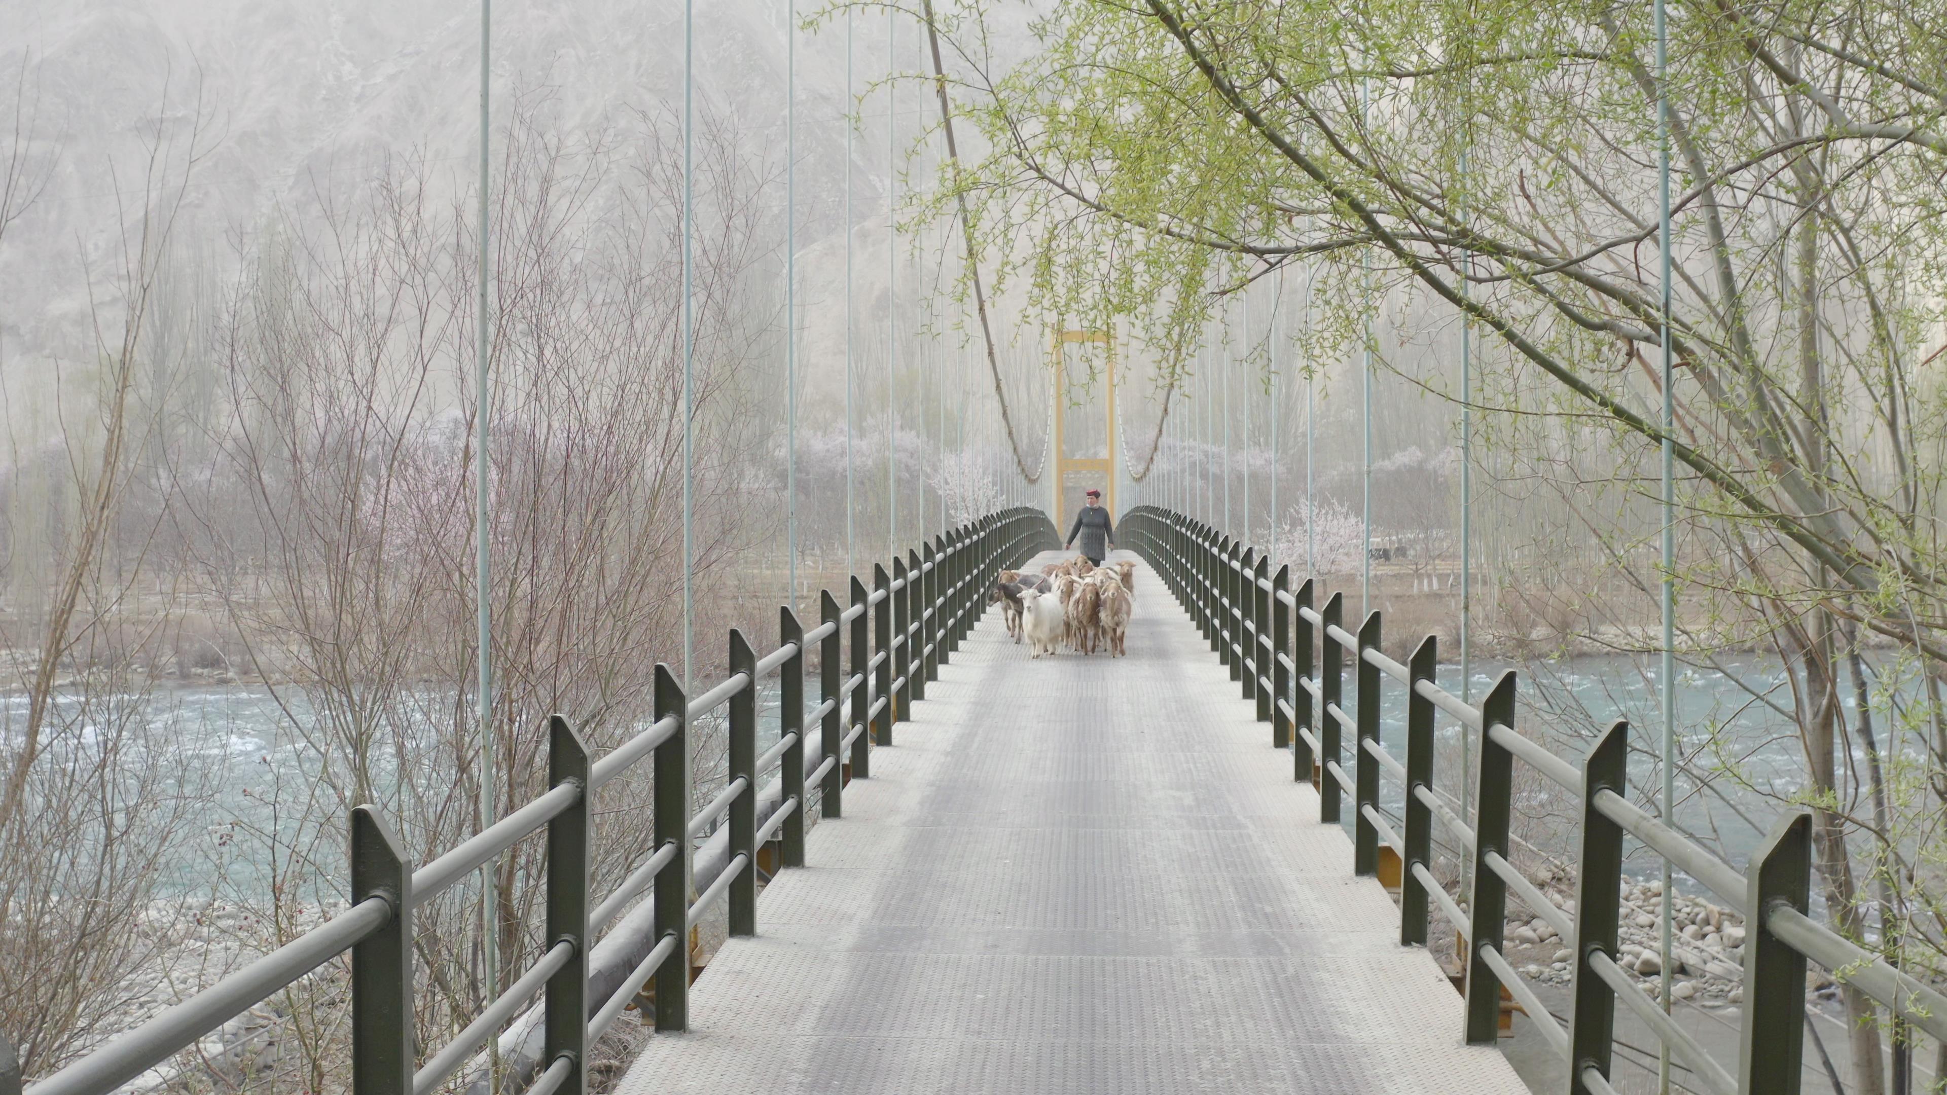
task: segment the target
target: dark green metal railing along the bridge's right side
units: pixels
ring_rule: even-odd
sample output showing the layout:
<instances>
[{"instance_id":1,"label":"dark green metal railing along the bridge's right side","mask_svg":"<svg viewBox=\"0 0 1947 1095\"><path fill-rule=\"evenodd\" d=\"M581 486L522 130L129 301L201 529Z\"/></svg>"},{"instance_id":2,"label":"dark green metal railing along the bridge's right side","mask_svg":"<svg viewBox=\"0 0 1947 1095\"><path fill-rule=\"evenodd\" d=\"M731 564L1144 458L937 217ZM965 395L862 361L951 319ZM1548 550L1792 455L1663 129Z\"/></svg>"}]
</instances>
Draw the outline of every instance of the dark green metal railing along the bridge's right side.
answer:
<instances>
[{"instance_id":1,"label":"dark green metal railing along the bridge's right side","mask_svg":"<svg viewBox=\"0 0 1947 1095\"><path fill-rule=\"evenodd\" d=\"M1380 614L1357 631L1343 627L1343 598L1314 606L1316 583L1291 588L1291 567L1269 571L1256 548L1157 507L1137 507L1121 522L1123 538L1143 553L1231 668L1258 719L1271 725L1271 744L1293 754L1293 777L1318 772L1318 820L1338 824L1353 801L1353 873L1375 875L1380 844L1400 857L1400 943L1425 945L1431 910L1466 939L1466 1040L1497 1037L1501 988L1523 1005L1548 1044L1569 1062L1571 1095L1608 1095L1616 1001L1620 1000L1672 1058L1690 1070L1690 1085L1713 1095L1797 1095L1803 1074L1805 974L1817 963L1902 1021L1947 1040L1947 998L1887 964L1885 959L1811 920L1811 814L1793 811L1772 828L1741 875L1706 848L1628 801L1626 721L1614 723L1581 768L1515 731L1515 672L1501 674L1476 707L1435 682L1439 647L1427 635L1406 664L1380 651ZM1353 711L1343 709L1345 659L1353 664ZM1386 680L1408 690L1406 762L1380 744L1380 690ZM1433 721L1445 711L1476 735L1480 770L1474 816L1462 818L1433 791ZM1353 772L1341 760L1351 736ZM1577 797L1581 851L1575 912L1556 906L1507 859L1513 772L1521 760ZM1404 836L1378 807L1380 779L1406 799ZM1472 824L1470 824L1472 822ZM1433 826L1472 855L1472 892L1462 904L1433 877ZM1745 1015L1735 1070L1649 1000L1616 964L1624 838L1635 838L1708 887L1745 916ZM1501 955L1509 892L1544 918L1575 953L1573 1007L1563 1029Z\"/></svg>"}]
</instances>

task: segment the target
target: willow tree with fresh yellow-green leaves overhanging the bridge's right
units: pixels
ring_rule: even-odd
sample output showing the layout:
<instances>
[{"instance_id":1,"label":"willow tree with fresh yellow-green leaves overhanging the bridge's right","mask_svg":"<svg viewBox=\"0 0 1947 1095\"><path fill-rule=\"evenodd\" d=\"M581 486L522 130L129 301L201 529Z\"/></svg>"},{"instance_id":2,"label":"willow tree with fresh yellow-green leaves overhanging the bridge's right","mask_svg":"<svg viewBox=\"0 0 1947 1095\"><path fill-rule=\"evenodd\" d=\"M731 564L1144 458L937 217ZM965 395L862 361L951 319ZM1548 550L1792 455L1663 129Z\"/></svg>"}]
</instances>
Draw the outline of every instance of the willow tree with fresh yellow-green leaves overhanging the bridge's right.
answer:
<instances>
[{"instance_id":1,"label":"willow tree with fresh yellow-green leaves overhanging the bridge's right","mask_svg":"<svg viewBox=\"0 0 1947 1095\"><path fill-rule=\"evenodd\" d=\"M995 16L935 12L979 152L923 210L964 208L989 277L1071 323L1121 320L1176 368L1227 292L1291 263L1361 286L1338 298L1340 331L1367 277L1445 300L1497 343L1489 394L1544 390L1567 436L1655 495L1647 4L1071 2L1009 64ZM1766 701L1803 742L1793 797L1817 816L1834 922L1935 982L1941 16L1939 0L1680 4L1667 82L1682 623L1694 655L1739 641L1783 659L1789 698ZM1869 641L1891 653L1861 668ZM1875 709L1914 748L1875 744ZM1871 779L1852 779L1854 744ZM1873 1005L1846 1003L1850 1091L1877 1093Z\"/></svg>"}]
</instances>

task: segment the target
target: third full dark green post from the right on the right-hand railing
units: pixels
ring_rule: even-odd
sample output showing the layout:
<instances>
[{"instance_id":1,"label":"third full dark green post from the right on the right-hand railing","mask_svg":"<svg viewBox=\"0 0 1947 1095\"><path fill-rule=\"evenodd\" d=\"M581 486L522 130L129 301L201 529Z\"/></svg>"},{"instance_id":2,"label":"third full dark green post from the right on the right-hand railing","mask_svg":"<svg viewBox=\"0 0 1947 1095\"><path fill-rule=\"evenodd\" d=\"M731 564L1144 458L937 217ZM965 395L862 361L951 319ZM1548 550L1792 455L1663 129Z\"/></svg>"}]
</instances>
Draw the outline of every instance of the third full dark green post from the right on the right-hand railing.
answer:
<instances>
[{"instance_id":1,"label":"third full dark green post from the right on the right-hand railing","mask_svg":"<svg viewBox=\"0 0 1947 1095\"><path fill-rule=\"evenodd\" d=\"M1501 978L1480 961L1482 947L1501 949L1507 927L1507 883L1488 865L1488 853L1507 857L1513 812L1515 754L1495 744L1488 729L1515 727L1515 670L1501 674L1480 705L1480 775L1474 785L1474 898L1468 904L1466 1040L1493 1044L1501 1027Z\"/></svg>"}]
</instances>

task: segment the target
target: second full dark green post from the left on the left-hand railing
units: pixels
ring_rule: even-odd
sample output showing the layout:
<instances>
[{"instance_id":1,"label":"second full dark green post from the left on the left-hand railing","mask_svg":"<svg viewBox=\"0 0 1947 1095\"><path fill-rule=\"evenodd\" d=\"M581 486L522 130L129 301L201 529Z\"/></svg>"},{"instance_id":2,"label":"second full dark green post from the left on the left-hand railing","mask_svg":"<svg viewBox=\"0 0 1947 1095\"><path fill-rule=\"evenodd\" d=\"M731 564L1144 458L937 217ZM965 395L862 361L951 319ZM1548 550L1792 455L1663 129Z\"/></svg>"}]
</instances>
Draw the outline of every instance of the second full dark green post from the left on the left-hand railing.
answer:
<instances>
[{"instance_id":1,"label":"second full dark green post from the left on the left-hand railing","mask_svg":"<svg viewBox=\"0 0 1947 1095\"><path fill-rule=\"evenodd\" d=\"M547 978L541 1058L569 1058L565 1095L588 1089L588 746L561 715L547 719L547 785L580 787L572 807L547 822L547 945L574 957Z\"/></svg>"}]
</instances>

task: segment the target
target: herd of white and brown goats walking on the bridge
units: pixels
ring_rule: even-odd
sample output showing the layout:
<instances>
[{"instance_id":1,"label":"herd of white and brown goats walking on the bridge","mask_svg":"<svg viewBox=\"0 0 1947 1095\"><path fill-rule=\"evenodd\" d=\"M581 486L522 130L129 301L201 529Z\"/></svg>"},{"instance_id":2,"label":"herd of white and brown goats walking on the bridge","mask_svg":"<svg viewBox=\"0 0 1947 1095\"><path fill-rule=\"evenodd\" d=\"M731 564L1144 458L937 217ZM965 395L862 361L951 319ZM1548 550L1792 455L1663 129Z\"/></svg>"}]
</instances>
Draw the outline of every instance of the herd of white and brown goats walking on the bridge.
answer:
<instances>
[{"instance_id":1,"label":"herd of white and brown goats walking on the bridge","mask_svg":"<svg viewBox=\"0 0 1947 1095\"><path fill-rule=\"evenodd\" d=\"M1121 657L1129 653L1133 590L1135 563L1096 567L1075 557L1047 563L1040 575L1001 571L987 602L1001 604L1007 633L1016 643L1026 635L1028 657L1053 655L1059 645L1084 655L1102 647Z\"/></svg>"}]
</instances>

